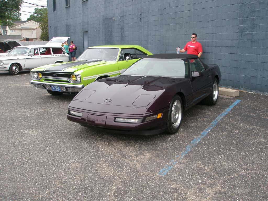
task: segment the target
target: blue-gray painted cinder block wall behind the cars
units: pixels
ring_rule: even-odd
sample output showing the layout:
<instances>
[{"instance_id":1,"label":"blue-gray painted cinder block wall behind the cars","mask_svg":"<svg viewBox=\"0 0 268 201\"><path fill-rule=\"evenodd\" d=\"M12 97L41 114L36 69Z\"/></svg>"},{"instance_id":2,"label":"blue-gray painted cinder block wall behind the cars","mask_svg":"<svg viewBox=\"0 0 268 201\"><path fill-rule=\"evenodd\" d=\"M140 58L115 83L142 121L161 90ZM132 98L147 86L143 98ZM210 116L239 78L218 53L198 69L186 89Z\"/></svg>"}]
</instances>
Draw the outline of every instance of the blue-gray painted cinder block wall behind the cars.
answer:
<instances>
[{"instance_id":1,"label":"blue-gray painted cinder block wall behind the cars","mask_svg":"<svg viewBox=\"0 0 268 201\"><path fill-rule=\"evenodd\" d=\"M57 0L48 14L49 39L70 36L78 55L84 31L89 46L138 44L154 54L175 53L197 33L222 86L268 93L268 1Z\"/></svg>"}]
</instances>

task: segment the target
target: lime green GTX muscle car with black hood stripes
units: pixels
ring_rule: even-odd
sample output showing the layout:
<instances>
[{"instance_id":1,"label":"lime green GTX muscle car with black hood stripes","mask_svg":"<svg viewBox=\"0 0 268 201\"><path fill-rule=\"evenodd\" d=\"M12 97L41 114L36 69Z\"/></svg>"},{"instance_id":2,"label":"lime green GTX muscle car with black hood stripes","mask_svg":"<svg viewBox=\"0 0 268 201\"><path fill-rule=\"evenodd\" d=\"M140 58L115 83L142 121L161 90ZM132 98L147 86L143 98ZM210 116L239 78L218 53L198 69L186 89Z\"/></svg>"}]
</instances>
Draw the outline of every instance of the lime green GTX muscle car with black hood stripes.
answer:
<instances>
[{"instance_id":1,"label":"lime green GTX muscle car with black hood stripes","mask_svg":"<svg viewBox=\"0 0 268 201\"><path fill-rule=\"evenodd\" d=\"M138 45L88 47L76 61L32 69L31 84L52 95L76 93L95 80L119 75L122 69L151 54Z\"/></svg>"}]
</instances>

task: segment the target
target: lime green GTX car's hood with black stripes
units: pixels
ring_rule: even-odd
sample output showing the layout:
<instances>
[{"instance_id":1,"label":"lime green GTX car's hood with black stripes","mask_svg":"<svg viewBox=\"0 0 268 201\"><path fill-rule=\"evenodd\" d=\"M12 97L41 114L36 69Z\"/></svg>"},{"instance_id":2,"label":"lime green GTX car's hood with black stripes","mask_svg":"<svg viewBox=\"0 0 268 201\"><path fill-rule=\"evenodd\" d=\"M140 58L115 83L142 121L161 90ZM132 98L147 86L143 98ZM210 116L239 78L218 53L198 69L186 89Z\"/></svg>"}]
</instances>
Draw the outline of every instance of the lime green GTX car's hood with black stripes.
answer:
<instances>
[{"instance_id":1,"label":"lime green GTX car's hood with black stripes","mask_svg":"<svg viewBox=\"0 0 268 201\"><path fill-rule=\"evenodd\" d=\"M77 60L72 62L65 62L59 64L49 64L45 66L40 66L38 68L33 69L34 71L63 71L63 72L75 72L77 70L81 70L83 68L95 67L97 65L106 64L105 61L84 61Z\"/></svg>"}]
</instances>

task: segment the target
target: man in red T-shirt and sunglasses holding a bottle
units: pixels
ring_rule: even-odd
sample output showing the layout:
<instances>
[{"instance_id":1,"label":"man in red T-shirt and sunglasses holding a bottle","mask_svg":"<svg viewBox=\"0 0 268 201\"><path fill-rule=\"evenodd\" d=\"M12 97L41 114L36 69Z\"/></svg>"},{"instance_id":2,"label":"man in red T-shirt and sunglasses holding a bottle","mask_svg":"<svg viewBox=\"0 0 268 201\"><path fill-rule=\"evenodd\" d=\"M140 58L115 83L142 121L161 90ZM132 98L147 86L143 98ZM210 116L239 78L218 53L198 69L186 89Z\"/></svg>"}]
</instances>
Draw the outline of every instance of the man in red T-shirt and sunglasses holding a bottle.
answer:
<instances>
[{"instance_id":1,"label":"man in red T-shirt and sunglasses holding a bottle","mask_svg":"<svg viewBox=\"0 0 268 201\"><path fill-rule=\"evenodd\" d=\"M201 43L196 41L196 38L197 38L197 34L192 33L191 41L186 43L186 45L184 46L182 50L180 50L180 52L187 51L187 54L195 54L195 55L198 55L198 57L201 57L203 53L202 45Z\"/></svg>"}]
</instances>

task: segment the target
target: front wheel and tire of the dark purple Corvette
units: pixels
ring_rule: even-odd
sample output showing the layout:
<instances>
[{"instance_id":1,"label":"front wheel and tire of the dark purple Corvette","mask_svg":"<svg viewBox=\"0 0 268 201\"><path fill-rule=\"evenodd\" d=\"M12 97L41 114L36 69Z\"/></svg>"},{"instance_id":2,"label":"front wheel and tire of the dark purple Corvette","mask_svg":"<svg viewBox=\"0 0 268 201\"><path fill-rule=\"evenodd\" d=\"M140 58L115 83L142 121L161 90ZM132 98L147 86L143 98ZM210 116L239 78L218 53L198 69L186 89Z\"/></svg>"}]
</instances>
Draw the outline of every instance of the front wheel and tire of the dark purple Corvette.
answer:
<instances>
[{"instance_id":1,"label":"front wheel and tire of the dark purple Corvette","mask_svg":"<svg viewBox=\"0 0 268 201\"><path fill-rule=\"evenodd\" d=\"M175 95L170 102L168 111L168 121L166 124L166 132L174 134L178 131L183 120L183 104L181 97Z\"/></svg>"}]
</instances>

